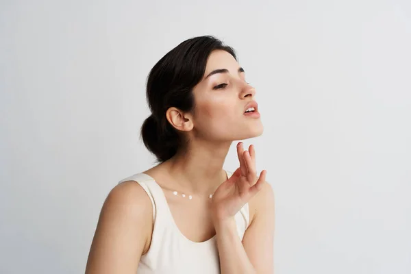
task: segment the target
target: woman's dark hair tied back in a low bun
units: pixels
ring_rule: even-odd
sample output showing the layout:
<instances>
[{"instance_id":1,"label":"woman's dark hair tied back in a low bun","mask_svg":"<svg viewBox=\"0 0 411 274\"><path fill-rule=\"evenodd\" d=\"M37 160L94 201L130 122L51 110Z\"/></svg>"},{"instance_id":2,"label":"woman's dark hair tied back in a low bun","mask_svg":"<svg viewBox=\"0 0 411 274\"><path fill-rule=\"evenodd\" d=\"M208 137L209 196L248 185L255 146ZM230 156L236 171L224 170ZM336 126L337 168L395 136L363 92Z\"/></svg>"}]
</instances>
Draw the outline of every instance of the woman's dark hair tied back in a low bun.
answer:
<instances>
[{"instance_id":1,"label":"woman's dark hair tied back in a low bun","mask_svg":"<svg viewBox=\"0 0 411 274\"><path fill-rule=\"evenodd\" d=\"M153 66L147 78L147 103L151 115L141 127L141 138L158 162L164 162L184 146L184 138L166 119L166 111L175 107L183 112L195 108L192 88L203 78L208 57L221 49L234 58L232 47L213 36L185 40L166 53Z\"/></svg>"}]
</instances>

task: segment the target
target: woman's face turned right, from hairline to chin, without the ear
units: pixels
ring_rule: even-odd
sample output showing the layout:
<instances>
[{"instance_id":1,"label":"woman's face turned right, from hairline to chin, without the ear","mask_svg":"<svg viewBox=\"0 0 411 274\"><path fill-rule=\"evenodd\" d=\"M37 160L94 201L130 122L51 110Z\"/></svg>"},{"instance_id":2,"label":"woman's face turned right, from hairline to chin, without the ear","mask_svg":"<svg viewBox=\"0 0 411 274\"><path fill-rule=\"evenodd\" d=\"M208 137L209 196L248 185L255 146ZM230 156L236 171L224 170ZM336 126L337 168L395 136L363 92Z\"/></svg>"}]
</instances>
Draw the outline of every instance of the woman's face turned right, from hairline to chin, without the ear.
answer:
<instances>
[{"instance_id":1,"label":"woman's face turned right, from hairline to chin, without the ear","mask_svg":"<svg viewBox=\"0 0 411 274\"><path fill-rule=\"evenodd\" d=\"M206 73L193 92L193 124L203 138L243 140L262 134L256 90L245 82L244 70L227 51L210 54ZM249 108L253 110L246 112Z\"/></svg>"}]
</instances>

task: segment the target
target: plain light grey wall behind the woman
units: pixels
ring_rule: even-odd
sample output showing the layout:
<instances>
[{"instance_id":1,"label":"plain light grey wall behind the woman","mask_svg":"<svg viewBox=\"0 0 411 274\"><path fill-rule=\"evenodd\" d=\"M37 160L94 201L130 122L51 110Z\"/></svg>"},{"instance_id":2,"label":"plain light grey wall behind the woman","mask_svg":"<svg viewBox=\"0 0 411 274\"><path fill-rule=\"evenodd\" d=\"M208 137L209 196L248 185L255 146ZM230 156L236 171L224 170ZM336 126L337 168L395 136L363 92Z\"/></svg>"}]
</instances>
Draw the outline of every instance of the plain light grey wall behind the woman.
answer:
<instances>
[{"instance_id":1,"label":"plain light grey wall behind the woman","mask_svg":"<svg viewBox=\"0 0 411 274\"><path fill-rule=\"evenodd\" d=\"M84 272L106 195L153 162L149 69L203 34L258 90L275 272L411 273L410 3L1 1L0 273Z\"/></svg>"}]
</instances>

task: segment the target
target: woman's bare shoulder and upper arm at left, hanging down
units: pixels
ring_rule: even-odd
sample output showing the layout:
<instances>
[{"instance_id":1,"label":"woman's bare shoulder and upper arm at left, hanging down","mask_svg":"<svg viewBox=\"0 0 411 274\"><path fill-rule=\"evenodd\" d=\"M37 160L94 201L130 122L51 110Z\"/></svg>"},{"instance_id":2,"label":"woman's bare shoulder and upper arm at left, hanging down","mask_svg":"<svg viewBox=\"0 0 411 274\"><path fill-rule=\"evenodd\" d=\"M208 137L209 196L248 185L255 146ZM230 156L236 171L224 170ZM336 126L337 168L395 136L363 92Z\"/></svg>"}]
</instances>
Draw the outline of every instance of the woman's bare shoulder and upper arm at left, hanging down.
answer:
<instances>
[{"instance_id":1,"label":"woman's bare shoulder and upper arm at left, hanging down","mask_svg":"<svg viewBox=\"0 0 411 274\"><path fill-rule=\"evenodd\" d=\"M86 274L136 273L153 229L153 207L134 181L112 188L106 197L88 256Z\"/></svg>"}]
</instances>

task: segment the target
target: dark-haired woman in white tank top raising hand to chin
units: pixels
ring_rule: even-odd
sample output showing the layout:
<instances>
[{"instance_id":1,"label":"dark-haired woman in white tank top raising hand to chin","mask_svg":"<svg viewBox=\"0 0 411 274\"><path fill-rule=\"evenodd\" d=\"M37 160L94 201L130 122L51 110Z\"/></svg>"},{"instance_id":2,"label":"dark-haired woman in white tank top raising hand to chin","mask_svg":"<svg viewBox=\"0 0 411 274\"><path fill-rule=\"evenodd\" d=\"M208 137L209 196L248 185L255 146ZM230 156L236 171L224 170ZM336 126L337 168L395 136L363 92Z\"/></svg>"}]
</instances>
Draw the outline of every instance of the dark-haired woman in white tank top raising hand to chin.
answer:
<instances>
[{"instance_id":1,"label":"dark-haired woman in white tank top raising hand to chin","mask_svg":"<svg viewBox=\"0 0 411 274\"><path fill-rule=\"evenodd\" d=\"M274 197L256 152L223 170L233 140L263 131L231 47L188 39L151 69L142 140L159 164L115 186L86 273L273 273Z\"/></svg>"}]
</instances>

